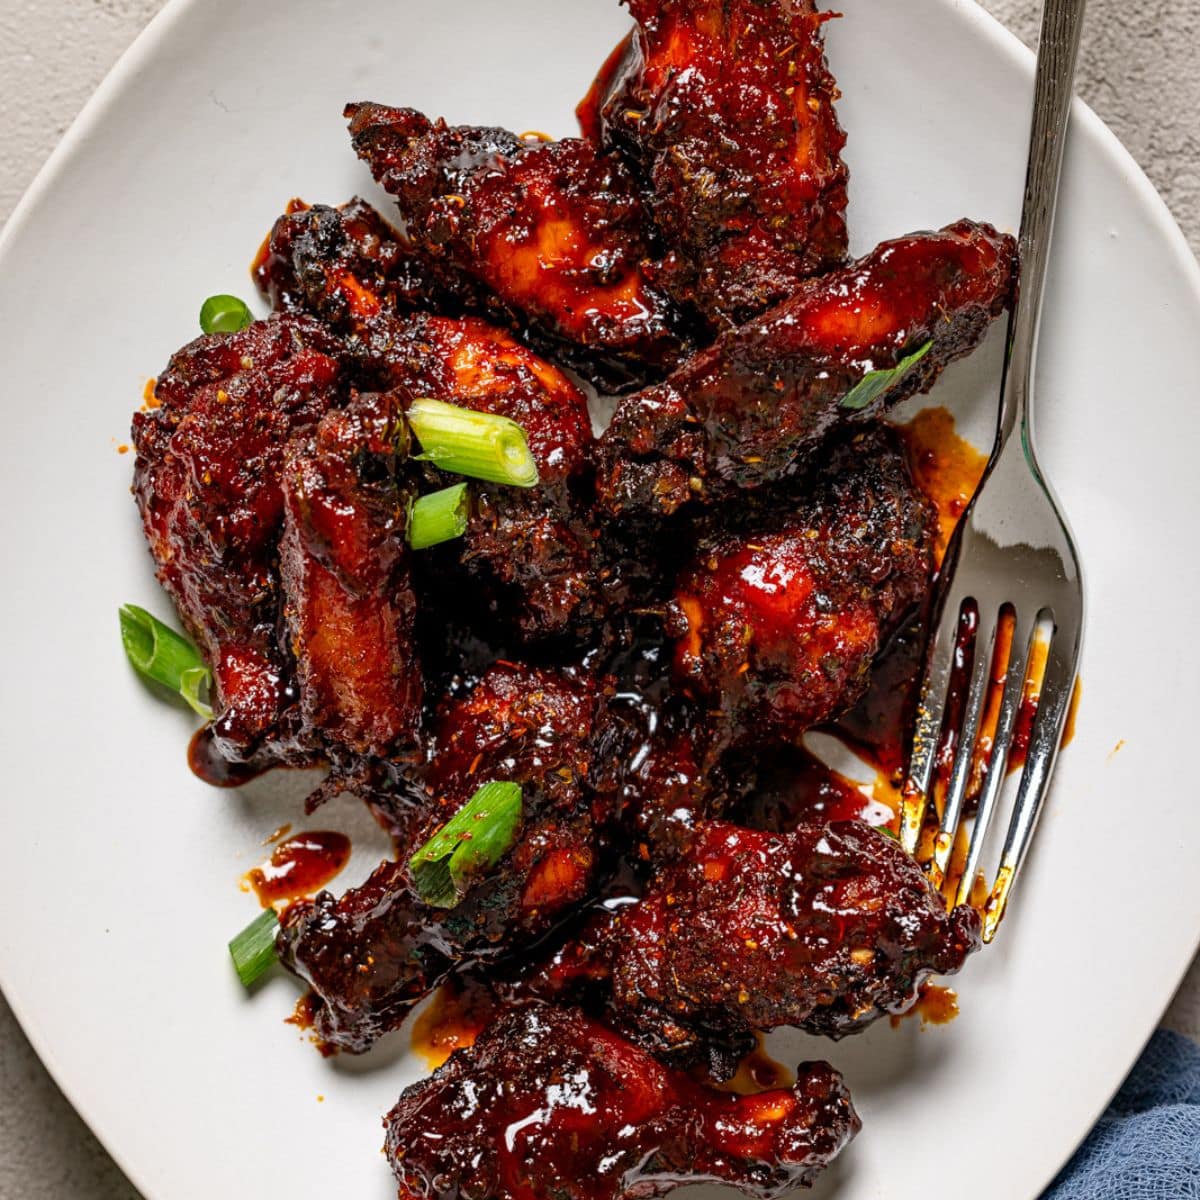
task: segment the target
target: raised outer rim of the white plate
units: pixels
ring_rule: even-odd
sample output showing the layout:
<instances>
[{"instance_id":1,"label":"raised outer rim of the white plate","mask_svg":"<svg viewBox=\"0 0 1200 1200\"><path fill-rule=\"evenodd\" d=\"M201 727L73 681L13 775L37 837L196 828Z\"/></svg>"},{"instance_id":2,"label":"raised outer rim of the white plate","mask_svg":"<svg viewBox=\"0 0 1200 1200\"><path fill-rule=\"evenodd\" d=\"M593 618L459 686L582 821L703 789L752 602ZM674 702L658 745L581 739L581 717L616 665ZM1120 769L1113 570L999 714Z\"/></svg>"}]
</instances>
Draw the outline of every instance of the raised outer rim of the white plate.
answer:
<instances>
[{"instance_id":1,"label":"raised outer rim of the white plate","mask_svg":"<svg viewBox=\"0 0 1200 1200\"><path fill-rule=\"evenodd\" d=\"M38 204L42 203L43 197L54 187L58 176L67 167L77 148L88 138L91 130L103 120L108 108L134 79L143 64L152 59L158 52L160 44L168 37L174 26L192 8L197 7L199 2L200 0L167 0L89 96L78 115L22 193L4 228L0 229L0 276L2 276L12 246L22 238L30 216L36 211ZM1033 50L1026 47L997 17L988 12L979 0L934 0L934 2L949 13L961 16L971 23L980 40L1004 54L1032 83ZM1074 100L1072 120L1075 124L1073 136L1078 137L1080 132L1086 130L1087 134L1096 140L1098 150L1122 176L1123 181L1132 185L1136 198L1144 206L1147 221L1152 223L1156 233L1164 238L1172 258L1182 268L1182 277L1187 281L1195 305L1200 310L1200 259L1198 259L1195 252L1192 250L1182 227L1168 206L1166 200L1117 134L1079 96ZM1120 1079L1090 1116L1082 1132L1066 1147L1054 1171L1042 1182L1042 1189L1050 1186L1058 1171L1072 1158L1084 1138L1093 1128L1096 1121L1108 1108L1109 1102L1116 1094L1121 1082L1141 1055L1154 1030L1160 1025L1163 1014L1170 1007L1198 952L1200 952L1200 922L1198 922L1193 942L1187 948L1186 956L1181 959L1175 971L1169 972L1169 977L1174 979L1170 992L1159 1007L1150 1010L1150 1020L1135 1031L1132 1031L1132 1037L1127 1033L1123 1039L1129 1054L1128 1056L1122 1055L1122 1058L1126 1061ZM94 1105L84 1106L77 1096L77 1088L67 1080L68 1072L58 1058L53 1046L53 1038L40 1027L31 1010L24 1006L19 997L19 991L13 989L14 980L10 978L6 983L5 976L5 964L0 960L0 994L4 995L24 1037L32 1046L34 1052L47 1073L54 1080L55 1086L133 1187L146 1200L157 1200L161 1193L151 1189L146 1172L126 1156L124 1148L116 1144L114 1138L109 1136L108 1123L103 1111ZM1031 1198L1031 1200L1034 1200L1034 1198Z\"/></svg>"}]
</instances>

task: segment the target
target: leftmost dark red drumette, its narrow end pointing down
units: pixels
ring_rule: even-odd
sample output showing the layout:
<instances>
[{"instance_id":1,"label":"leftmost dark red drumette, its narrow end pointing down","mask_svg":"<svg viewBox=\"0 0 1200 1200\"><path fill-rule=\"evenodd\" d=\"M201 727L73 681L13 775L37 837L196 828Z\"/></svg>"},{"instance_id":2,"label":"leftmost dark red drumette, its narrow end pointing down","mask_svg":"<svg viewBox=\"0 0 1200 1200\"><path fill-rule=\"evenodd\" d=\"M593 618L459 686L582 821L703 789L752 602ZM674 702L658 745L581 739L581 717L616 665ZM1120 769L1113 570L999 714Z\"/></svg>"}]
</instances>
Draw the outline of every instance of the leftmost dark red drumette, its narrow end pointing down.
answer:
<instances>
[{"instance_id":1,"label":"leftmost dark red drumette, its narrow end pointing down","mask_svg":"<svg viewBox=\"0 0 1200 1200\"><path fill-rule=\"evenodd\" d=\"M281 728L276 640L281 474L293 436L346 397L340 346L302 316L197 338L133 416L133 487L158 580L212 666L215 743L230 761L302 760Z\"/></svg>"}]
</instances>

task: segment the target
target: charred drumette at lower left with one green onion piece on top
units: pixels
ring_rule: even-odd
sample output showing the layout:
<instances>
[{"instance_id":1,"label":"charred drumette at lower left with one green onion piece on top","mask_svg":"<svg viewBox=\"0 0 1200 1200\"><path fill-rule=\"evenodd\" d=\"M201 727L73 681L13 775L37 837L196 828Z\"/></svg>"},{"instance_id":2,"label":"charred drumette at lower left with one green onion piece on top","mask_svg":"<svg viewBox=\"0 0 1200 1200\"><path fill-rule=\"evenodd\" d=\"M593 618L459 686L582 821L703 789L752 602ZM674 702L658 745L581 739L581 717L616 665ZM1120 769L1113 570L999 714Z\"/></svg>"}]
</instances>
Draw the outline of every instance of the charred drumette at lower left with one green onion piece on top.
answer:
<instances>
[{"instance_id":1,"label":"charred drumette at lower left with one green onion piece on top","mask_svg":"<svg viewBox=\"0 0 1200 1200\"><path fill-rule=\"evenodd\" d=\"M288 908L283 964L311 984L314 1028L360 1052L398 1026L452 966L529 944L593 883L595 799L587 786L599 696L593 680L497 665L445 703L430 737L424 786L400 862L340 899L322 892ZM520 782L524 820L511 852L454 908L425 904L408 857L491 780Z\"/></svg>"}]
</instances>

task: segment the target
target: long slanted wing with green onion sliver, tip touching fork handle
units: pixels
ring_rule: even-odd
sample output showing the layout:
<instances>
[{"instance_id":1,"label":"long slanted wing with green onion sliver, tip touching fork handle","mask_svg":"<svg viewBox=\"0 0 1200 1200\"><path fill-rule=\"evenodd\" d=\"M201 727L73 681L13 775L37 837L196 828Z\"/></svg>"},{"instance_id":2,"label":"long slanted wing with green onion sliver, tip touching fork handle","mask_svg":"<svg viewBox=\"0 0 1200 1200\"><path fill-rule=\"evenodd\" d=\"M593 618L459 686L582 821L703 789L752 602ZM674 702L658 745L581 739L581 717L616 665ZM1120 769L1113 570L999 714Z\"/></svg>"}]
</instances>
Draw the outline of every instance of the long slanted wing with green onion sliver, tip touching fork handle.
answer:
<instances>
[{"instance_id":1,"label":"long slanted wing with green onion sliver, tip touching fork handle","mask_svg":"<svg viewBox=\"0 0 1200 1200\"><path fill-rule=\"evenodd\" d=\"M979 344L1015 275L1012 238L960 221L800 284L622 401L599 445L604 504L666 515L779 478L839 422L928 391Z\"/></svg>"}]
</instances>

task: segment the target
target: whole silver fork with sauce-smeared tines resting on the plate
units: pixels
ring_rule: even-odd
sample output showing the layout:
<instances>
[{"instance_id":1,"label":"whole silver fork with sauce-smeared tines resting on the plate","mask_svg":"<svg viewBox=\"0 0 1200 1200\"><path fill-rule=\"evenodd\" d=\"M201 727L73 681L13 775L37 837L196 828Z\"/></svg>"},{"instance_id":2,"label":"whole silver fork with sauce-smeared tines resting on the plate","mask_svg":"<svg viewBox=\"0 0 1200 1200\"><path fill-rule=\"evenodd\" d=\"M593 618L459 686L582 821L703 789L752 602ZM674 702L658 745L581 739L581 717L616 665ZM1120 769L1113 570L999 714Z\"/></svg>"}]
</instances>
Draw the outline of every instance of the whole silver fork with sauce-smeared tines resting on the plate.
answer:
<instances>
[{"instance_id":1,"label":"whole silver fork with sauce-smeared tines resting on the plate","mask_svg":"<svg viewBox=\"0 0 1200 1200\"><path fill-rule=\"evenodd\" d=\"M1030 164L1021 214L1021 284L1009 322L996 442L938 574L932 635L925 654L900 839L910 853L922 841L926 808L937 797L935 767L950 758L937 834L926 870L949 905L970 900L1013 751L1026 688L1038 694L1025 767L1013 802L1000 866L983 905L983 937L996 935L1025 862L1054 772L1070 704L1084 629L1084 583L1070 528L1033 449L1033 368L1050 238L1084 23L1085 0L1046 0L1038 48ZM1003 617L1002 617L1003 613ZM973 616L972 616L973 614ZM971 625L974 623L973 638ZM1012 628L1010 652L997 661L998 631ZM966 630L966 635L961 631ZM1048 642L1048 644L1046 644ZM1045 650L1040 679L1026 676ZM955 667L958 662L958 667ZM989 678L1003 691L995 731L980 730ZM948 712L952 679L967 679L961 716ZM990 754L988 743L990 740ZM966 832L968 785L978 779L974 826ZM946 763L943 762L943 768ZM960 828L961 827L961 828ZM968 840L967 840L968 839ZM955 845L966 842L958 880L948 874Z\"/></svg>"}]
</instances>

